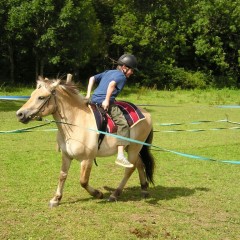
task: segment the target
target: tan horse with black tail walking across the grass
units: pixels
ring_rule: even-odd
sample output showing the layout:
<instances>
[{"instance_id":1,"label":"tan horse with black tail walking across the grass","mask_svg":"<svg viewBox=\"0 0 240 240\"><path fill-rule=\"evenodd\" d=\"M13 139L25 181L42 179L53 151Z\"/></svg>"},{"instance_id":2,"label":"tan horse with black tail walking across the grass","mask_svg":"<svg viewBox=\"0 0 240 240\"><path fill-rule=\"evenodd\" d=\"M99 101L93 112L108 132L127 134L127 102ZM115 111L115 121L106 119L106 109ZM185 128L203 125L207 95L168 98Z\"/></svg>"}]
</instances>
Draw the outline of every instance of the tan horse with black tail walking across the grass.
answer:
<instances>
[{"instance_id":1,"label":"tan horse with black tail walking across the grass","mask_svg":"<svg viewBox=\"0 0 240 240\"><path fill-rule=\"evenodd\" d=\"M130 141L126 151L128 160L134 167L125 168L123 179L111 193L108 201L117 201L136 168L143 197L149 195L149 183L154 184L155 160L150 152L153 139L151 115L145 109L141 111L145 118L130 128L130 139L146 144ZM117 153L116 137L112 134L105 134L100 147L98 146L99 132L95 117L88 102L72 81L71 74L67 75L66 80L38 77L36 89L31 93L28 101L16 112L18 120L24 124L48 115L53 116L57 125L57 144L62 157L57 190L49 206L56 207L60 204L64 183L73 159L80 161L81 187L91 196L102 199L103 193L89 185L90 173L96 157L106 157Z\"/></svg>"}]
</instances>

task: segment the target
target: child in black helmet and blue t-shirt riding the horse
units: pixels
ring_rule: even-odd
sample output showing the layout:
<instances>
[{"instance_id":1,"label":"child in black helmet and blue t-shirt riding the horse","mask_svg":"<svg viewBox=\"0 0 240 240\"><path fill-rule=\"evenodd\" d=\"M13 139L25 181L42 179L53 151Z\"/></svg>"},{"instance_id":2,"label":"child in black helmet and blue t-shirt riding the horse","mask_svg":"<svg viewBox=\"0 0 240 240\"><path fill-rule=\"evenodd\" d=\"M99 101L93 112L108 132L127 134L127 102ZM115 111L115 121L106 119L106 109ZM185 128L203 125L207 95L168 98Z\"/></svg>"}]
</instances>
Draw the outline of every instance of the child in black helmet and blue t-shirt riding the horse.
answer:
<instances>
[{"instance_id":1,"label":"child in black helmet and blue t-shirt riding the horse","mask_svg":"<svg viewBox=\"0 0 240 240\"><path fill-rule=\"evenodd\" d=\"M90 98L92 87L96 82L98 86L92 95L91 102L101 105L108 112L118 126L118 135L129 138L128 123L114 102L127 78L133 74L134 70L137 70L137 59L134 55L124 54L118 59L117 64L115 70L107 70L89 78L86 98ZM128 141L117 139L118 155L115 163L132 168L133 164L124 156L124 148L127 145L129 145Z\"/></svg>"}]
</instances>

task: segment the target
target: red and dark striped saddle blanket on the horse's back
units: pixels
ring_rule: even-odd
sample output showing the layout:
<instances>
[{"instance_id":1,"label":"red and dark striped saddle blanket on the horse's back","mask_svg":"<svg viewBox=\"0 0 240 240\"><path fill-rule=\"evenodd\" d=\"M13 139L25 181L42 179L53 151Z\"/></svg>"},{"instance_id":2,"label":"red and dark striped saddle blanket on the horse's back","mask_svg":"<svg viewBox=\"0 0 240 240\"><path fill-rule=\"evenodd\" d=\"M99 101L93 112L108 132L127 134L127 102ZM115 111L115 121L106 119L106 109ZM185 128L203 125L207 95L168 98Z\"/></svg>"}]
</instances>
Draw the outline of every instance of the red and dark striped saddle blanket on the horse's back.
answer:
<instances>
[{"instance_id":1,"label":"red and dark striped saddle blanket on the horse's back","mask_svg":"<svg viewBox=\"0 0 240 240\"><path fill-rule=\"evenodd\" d=\"M115 104L122 111L124 117L127 120L129 127L133 127L139 121L145 119L145 116L142 114L139 108L133 103L125 102L125 101L116 101ZM116 123L112 120L110 115L107 112L105 112L105 110L99 105L96 105L93 103L90 103L89 105L95 116L98 130L102 132L116 133L118 127ZM100 145L104 139L104 136L105 134L100 133L99 139L98 139L98 149L100 148Z\"/></svg>"}]
</instances>

